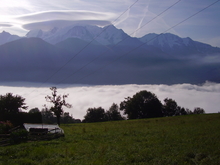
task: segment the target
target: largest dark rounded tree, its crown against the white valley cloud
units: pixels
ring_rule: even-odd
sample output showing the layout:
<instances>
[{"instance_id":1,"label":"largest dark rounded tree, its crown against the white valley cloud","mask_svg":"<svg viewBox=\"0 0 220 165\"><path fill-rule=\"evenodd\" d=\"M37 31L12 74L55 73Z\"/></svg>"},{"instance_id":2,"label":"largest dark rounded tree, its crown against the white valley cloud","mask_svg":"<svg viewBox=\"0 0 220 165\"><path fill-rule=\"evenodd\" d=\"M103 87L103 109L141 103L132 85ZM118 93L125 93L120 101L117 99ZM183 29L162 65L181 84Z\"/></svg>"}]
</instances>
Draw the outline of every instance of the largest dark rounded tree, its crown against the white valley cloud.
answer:
<instances>
[{"instance_id":1,"label":"largest dark rounded tree, its crown against the white valley cloud","mask_svg":"<svg viewBox=\"0 0 220 165\"><path fill-rule=\"evenodd\" d=\"M120 110L129 119L162 117L162 104L157 96L146 90L136 93L132 98L125 98Z\"/></svg>"}]
</instances>

